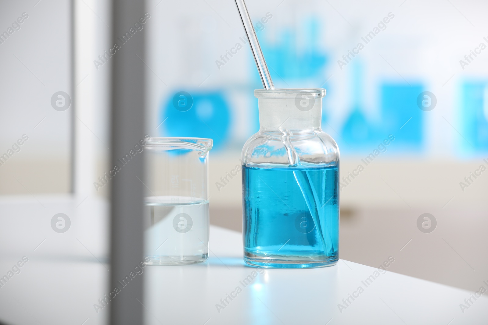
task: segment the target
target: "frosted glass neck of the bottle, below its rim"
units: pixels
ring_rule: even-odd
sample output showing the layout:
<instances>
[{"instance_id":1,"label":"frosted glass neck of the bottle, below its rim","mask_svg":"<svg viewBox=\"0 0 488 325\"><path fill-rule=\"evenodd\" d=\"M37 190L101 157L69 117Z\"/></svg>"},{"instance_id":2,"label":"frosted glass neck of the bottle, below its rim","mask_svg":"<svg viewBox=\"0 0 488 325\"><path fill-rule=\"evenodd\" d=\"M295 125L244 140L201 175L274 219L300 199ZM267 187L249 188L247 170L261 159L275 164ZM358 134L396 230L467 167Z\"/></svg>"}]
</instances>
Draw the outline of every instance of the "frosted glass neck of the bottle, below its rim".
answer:
<instances>
[{"instance_id":1,"label":"frosted glass neck of the bottle, below its rim","mask_svg":"<svg viewBox=\"0 0 488 325\"><path fill-rule=\"evenodd\" d=\"M322 98L259 98L260 131L321 129Z\"/></svg>"}]
</instances>

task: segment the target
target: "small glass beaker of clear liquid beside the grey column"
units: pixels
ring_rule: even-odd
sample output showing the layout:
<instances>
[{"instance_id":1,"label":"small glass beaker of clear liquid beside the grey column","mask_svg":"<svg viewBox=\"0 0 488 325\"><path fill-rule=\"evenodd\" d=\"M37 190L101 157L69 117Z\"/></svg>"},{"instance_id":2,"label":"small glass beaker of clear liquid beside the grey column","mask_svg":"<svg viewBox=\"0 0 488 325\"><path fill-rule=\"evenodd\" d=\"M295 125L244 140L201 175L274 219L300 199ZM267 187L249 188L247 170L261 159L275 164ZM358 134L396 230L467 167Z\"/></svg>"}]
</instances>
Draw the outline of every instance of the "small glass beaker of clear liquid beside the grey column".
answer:
<instances>
[{"instance_id":1,"label":"small glass beaker of clear liquid beside the grey column","mask_svg":"<svg viewBox=\"0 0 488 325\"><path fill-rule=\"evenodd\" d=\"M208 257L208 152L212 139L153 137L145 146L144 255L149 265Z\"/></svg>"}]
</instances>

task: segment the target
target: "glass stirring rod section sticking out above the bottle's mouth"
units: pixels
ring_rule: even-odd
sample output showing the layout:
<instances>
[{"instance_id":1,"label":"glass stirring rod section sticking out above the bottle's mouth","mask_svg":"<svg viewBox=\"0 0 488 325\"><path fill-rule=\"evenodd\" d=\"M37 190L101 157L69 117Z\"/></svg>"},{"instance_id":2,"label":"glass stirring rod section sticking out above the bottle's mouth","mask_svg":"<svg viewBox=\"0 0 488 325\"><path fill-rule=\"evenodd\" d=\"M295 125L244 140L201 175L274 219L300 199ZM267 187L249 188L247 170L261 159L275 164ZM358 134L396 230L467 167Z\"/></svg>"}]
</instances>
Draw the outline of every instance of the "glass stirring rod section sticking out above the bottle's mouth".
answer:
<instances>
[{"instance_id":1,"label":"glass stirring rod section sticking out above the bottle's mouth","mask_svg":"<svg viewBox=\"0 0 488 325\"><path fill-rule=\"evenodd\" d=\"M264 89L275 89L273 85L273 80L271 80L271 75L269 74L268 66L266 65L266 61L264 60L263 51L261 51L261 46L259 45L259 41L256 36L256 31L254 30L251 18L249 17L249 13L247 12L245 2L244 0L235 1L237 10L239 10L239 14L241 15L241 20L244 25L247 39L249 40L249 45L251 46L254 61L256 62L256 66L258 67L259 76L261 77L261 81L263 81Z\"/></svg>"}]
</instances>

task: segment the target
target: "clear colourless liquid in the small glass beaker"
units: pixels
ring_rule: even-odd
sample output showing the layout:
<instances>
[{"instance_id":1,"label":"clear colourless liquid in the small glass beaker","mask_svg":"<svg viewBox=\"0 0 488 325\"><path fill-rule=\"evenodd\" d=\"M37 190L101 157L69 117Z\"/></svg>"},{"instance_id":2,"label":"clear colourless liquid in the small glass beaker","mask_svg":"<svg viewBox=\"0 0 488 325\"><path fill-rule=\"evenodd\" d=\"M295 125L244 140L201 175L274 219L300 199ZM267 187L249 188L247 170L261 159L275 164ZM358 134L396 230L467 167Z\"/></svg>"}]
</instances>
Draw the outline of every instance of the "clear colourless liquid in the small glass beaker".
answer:
<instances>
[{"instance_id":1,"label":"clear colourless liquid in the small glass beaker","mask_svg":"<svg viewBox=\"0 0 488 325\"><path fill-rule=\"evenodd\" d=\"M149 265L181 265L208 257L208 200L183 196L146 197L144 255Z\"/></svg>"}]
</instances>

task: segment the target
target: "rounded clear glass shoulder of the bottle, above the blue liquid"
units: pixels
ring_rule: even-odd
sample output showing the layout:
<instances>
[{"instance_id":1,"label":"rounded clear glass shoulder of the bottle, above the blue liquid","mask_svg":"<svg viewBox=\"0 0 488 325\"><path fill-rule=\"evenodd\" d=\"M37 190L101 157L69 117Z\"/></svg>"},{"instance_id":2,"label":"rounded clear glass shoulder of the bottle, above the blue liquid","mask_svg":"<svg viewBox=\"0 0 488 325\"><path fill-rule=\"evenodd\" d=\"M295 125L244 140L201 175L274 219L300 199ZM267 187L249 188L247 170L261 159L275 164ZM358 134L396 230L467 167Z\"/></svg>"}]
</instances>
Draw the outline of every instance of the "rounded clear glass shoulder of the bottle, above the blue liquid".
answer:
<instances>
[{"instance_id":1,"label":"rounded clear glass shoulder of the bottle, above the blue liquid","mask_svg":"<svg viewBox=\"0 0 488 325\"><path fill-rule=\"evenodd\" d=\"M288 166L300 162L333 166L339 164L339 147L322 130L260 131L247 139L241 156L246 166L262 163Z\"/></svg>"}]
</instances>

